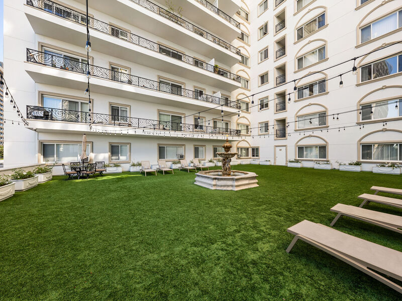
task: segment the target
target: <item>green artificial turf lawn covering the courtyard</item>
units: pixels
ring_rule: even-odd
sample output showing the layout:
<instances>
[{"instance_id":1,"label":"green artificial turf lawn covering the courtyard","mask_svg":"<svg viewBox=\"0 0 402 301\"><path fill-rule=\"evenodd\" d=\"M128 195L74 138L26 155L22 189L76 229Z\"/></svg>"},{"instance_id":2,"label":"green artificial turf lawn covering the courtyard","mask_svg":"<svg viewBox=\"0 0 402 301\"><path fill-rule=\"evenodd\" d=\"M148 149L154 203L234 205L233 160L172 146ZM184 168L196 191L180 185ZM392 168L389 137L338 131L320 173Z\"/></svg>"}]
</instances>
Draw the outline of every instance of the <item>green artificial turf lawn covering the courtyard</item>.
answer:
<instances>
[{"instance_id":1,"label":"green artificial turf lawn covering the courtyard","mask_svg":"<svg viewBox=\"0 0 402 301\"><path fill-rule=\"evenodd\" d=\"M54 177L0 202L0 300L400 300L286 229L329 226L337 203L402 176L237 166L259 187L193 184L194 172ZM401 215L370 203L365 208ZM402 251L401 235L350 218L337 230Z\"/></svg>"}]
</instances>

